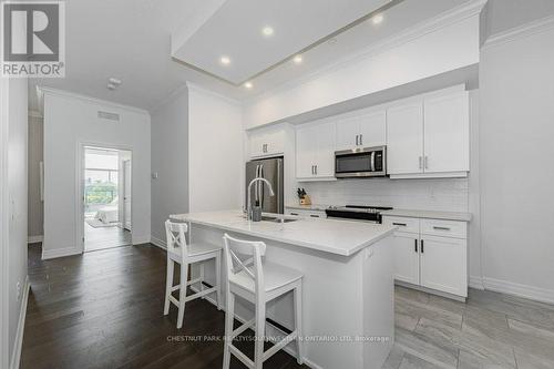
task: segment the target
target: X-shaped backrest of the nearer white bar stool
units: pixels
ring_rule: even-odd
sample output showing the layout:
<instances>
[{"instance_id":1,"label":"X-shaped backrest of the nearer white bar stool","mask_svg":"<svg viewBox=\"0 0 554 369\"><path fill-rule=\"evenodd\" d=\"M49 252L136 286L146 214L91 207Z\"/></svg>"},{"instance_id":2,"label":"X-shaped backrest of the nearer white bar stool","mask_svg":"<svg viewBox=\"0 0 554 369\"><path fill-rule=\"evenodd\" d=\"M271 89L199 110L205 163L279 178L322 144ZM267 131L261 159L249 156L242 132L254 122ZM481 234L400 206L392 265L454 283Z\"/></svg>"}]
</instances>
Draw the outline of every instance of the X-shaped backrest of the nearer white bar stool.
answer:
<instances>
[{"instance_id":1,"label":"X-shaped backrest of the nearer white bar stool","mask_svg":"<svg viewBox=\"0 0 554 369\"><path fill-rule=\"evenodd\" d=\"M259 296L264 291L261 256L266 255L266 244L259 240L233 238L227 234L223 236L223 240L227 279L244 271L246 276L254 280L256 295Z\"/></svg>"}]
</instances>

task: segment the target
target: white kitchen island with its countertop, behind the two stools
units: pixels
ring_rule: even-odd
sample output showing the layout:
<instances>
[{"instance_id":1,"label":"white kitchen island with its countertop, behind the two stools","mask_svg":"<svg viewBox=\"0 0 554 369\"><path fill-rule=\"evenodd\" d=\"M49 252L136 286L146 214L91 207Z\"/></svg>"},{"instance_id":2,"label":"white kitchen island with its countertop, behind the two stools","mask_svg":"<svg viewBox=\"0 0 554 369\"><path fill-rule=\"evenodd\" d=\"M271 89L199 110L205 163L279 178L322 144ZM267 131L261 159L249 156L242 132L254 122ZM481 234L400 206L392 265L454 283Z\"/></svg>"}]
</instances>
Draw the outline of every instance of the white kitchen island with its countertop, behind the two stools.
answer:
<instances>
[{"instance_id":1,"label":"white kitchen island with its countertop, behind the two stools","mask_svg":"<svg viewBox=\"0 0 554 369\"><path fill-rule=\"evenodd\" d=\"M268 214L266 221L248 222L240 211L171 218L188 223L189 243L223 245L225 233L264 240L267 260L304 273L302 336L308 366L381 368L394 338L391 235L396 227ZM198 273L193 269L192 278ZM214 265L205 267L204 276L208 284L215 283ZM238 298L235 312L240 320L254 315L253 307ZM267 318L266 336L283 336L279 328L294 327L291 296L270 301ZM295 353L294 342L287 350Z\"/></svg>"}]
</instances>

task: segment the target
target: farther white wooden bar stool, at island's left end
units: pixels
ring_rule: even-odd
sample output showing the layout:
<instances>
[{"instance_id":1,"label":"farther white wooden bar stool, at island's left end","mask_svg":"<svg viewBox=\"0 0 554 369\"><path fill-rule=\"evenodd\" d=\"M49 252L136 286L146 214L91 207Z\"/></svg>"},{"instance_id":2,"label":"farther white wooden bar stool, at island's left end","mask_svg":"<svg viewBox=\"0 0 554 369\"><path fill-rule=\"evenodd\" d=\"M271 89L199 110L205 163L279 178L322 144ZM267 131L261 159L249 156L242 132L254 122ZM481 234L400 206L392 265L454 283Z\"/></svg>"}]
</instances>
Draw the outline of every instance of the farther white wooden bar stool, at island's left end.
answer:
<instances>
[{"instance_id":1,"label":"farther white wooden bar stool, at island's left end","mask_svg":"<svg viewBox=\"0 0 554 369\"><path fill-rule=\"evenodd\" d=\"M167 238L167 279L165 283L164 315L170 314L170 303L175 304L178 308L177 328L183 327L185 303L194 300L195 298L215 293L217 308L219 310L222 309L222 247L208 243L191 243L191 245L187 245L185 238L185 233L187 232L187 229L188 226L185 223L173 223L171 221L165 221L165 234ZM188 265L195 263L205 263L211 259L215 259L216 285L214 287L204 289L204 285L202 284L204 281L204 273L202 271L198 278L187 280ZM175 263L181 265L181 278L179 284L173 286L173 273ZM199 293L186 296L187 286L194 284L198 284ZM179 290L178 300L172 296L172 293L177 289Z\"/></svg>"}]
</instances>

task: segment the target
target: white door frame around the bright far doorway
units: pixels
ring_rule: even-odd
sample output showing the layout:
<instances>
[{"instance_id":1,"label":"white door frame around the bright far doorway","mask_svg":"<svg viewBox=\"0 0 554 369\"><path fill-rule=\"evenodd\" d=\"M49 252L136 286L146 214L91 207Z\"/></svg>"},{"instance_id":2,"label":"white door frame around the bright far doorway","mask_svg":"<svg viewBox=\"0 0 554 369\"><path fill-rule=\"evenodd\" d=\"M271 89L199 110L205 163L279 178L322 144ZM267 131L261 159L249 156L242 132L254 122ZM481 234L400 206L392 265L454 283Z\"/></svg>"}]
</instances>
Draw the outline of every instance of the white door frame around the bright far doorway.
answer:
<instances>
[{"instance_id":1,"label":"white door frame around the bright far doorway","mask_svg":"<svg viewBox=\"0 0 554 369\"><path fill-rule=\"evenodd\" d=\"M133 175L133 146L119 145L112 143L80 141L76 144L76 165L75 165L75 185L76 185L76 202L75 202L75 245L80 254L84 253L84 150L85 147L109 148L117 151L131 152L131 175ZM131 202L133 202L133 180L131 178ZM133 204L131 203L131 224L133 224ZM133 230L131 229L131 244L133 244Z\"/></svg>"}]
</instances>

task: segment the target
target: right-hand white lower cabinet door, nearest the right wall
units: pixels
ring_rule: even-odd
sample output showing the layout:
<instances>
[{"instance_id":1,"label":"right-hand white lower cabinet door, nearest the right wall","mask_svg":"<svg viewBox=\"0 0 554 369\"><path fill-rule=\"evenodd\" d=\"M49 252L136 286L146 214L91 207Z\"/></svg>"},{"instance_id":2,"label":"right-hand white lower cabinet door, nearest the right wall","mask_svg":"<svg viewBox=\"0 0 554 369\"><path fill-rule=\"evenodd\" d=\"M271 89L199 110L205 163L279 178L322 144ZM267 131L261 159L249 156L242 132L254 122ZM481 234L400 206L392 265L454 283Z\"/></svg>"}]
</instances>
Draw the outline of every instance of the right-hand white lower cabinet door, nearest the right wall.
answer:
<instances>
[{"instance_id":1,"label":"right-hand white lower cabinet door, nearest the right wall","mask_svg":"<svg viewBox=\"0 0 554 369\"><path fill-rule=\"evenodd\" d=\"M421 286L468 296L466 240L421 236Z\"/></svg>"}]
</instances>

